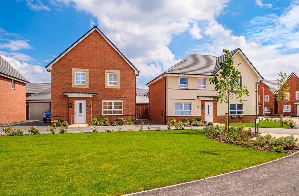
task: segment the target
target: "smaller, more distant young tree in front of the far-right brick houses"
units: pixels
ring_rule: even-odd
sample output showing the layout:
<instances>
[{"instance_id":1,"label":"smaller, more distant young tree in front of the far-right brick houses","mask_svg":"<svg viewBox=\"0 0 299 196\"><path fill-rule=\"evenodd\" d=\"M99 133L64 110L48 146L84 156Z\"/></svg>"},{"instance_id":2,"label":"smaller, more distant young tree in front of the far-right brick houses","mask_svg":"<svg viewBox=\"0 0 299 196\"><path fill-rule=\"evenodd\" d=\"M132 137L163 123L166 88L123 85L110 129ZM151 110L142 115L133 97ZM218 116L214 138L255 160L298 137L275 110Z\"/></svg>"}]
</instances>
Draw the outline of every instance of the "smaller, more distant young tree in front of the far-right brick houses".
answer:
<instances>
[{"instance_id":1,"label":"smaller, more distant young tree in front of the far-right brick houses","mask_svg":"<svg viewBox=\"0 0 299 196\"><path fill-rule=\"evenodd\" d=\"M282 118L283 118L283 106L285 102L288 102L289 96L289 90L290 87L288 87L288 84L290 82L286 81L286 79L289 77L288 75L286 75L286 73L282 73L281 71L277 74L279 76L279 79L277 84L278 84L278 93L275 91L273 94L276 95L275 99L277 102L281 102L282 103ZM283 119L282 119L283 120ZM282 123L283 126L283 123Z\"/></svg>"}]
</instances>

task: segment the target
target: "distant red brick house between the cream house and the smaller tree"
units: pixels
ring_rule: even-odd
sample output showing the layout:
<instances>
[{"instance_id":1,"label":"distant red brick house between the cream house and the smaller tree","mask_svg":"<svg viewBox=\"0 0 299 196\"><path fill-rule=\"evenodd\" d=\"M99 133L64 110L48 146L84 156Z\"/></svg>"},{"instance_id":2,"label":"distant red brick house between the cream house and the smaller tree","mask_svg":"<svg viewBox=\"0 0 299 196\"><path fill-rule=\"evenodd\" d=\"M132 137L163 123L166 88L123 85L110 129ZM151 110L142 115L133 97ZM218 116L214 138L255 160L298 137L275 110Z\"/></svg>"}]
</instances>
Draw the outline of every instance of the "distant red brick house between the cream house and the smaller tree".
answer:
<instances>
[{"instance_id":1,"label":"distant red brick house between the cream house and the smaller tree","mask_svg":"<svg viewBox=\"0 0 299 196\"><path fill-rule=\"evenodd\" d=\"M277 114L278 103L275 94L278 91L277 80L263 79L259 82L258 103L259 115Z\"/></svg>"}]
</instances>

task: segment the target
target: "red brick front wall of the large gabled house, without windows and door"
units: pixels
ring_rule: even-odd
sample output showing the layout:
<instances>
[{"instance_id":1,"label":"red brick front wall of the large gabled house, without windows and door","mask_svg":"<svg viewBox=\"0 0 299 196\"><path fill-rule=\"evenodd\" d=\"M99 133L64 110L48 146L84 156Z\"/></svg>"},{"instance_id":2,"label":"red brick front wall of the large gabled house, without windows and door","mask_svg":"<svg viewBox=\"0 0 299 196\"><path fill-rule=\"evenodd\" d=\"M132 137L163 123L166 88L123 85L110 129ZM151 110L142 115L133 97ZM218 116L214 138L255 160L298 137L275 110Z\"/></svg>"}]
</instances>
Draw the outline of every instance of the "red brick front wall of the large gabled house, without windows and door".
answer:
<instances>
[{"instance_id":1,"label":"red brick front wall of the large gabled house, without windows and door","mask_svg":"<svg viewBox=\"0 0 299 196\"><path fill-rule=\"evenodd\" d=\"M71 87L72 68L89 69L89 88ZM105 70L120 70L120 89L105 88ZM122 100L123 116L121 117L135 118L135 91L135 70L97 31L94 31L52 66L51 118L70 120L73 117L69 110L69 99L62 92L97 93L91 101L87 101L90 98L85 98L87 102L92 102L91 107L86 107L91 111L91 115L89 111L87 112L86 123L93 117L116 120L118 116L102 115L102 100ZM72 103L74 112L74 102Z\"/></svg>"}]
</instances>

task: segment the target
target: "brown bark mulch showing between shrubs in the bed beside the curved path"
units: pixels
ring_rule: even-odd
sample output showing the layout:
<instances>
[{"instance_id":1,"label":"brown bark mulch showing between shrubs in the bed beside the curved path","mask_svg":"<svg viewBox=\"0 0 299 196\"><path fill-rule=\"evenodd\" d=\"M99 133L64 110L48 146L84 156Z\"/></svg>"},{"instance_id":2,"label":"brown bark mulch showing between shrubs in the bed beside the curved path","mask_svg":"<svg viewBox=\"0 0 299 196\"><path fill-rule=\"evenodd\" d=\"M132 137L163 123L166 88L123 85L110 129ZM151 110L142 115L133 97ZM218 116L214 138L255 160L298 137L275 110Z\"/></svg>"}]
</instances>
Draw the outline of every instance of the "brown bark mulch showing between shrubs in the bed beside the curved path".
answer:
<instances>
[{"instance_id":1,"label":"brown bark mulch showing between shrubs in the bed beside the curved path","mask_svg":"<svg viewBox=\"0 0 299 196\"><path fill-rule=\"evenodd\" d=\"M217 140L219 142L225 143L225 136L217 136L217 137L210 137L210 138L213 139L213 140ZM250 136L248 141L249 142L256 142L255 140L252 140L253 138L254 138L254 136ZM233 146L247 147L247 146L242 145L242 143L238 142L238 140L235 140L235 139L229 144L233 145ZM255 146L254 149L261 150L261 151L272 151L269 148L269 146L264 146L264 145ZM289 148L289 149L282 150L281 152L288 153L288 154L293 154L297 151L299 151L299 145L295 146L294 148Z\"/></svg>"}]
</instances>

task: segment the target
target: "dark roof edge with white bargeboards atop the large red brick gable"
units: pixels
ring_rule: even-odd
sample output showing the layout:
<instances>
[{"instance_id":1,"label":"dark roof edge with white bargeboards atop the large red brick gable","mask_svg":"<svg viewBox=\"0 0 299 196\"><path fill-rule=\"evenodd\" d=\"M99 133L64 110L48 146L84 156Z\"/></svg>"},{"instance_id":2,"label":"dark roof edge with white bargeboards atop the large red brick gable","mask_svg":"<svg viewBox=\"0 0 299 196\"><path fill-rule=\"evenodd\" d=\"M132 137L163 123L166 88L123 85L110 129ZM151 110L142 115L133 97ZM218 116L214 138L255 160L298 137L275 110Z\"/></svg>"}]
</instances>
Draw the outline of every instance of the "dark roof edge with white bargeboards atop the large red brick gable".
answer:
<instances>
[{"instance_id":1,"label":"dark roof edge with white bargeboards atop the large red brick gable","mask_svg":"<svg viewBox=\"0 0 299 196\"><path fill-rule=\"evenodd\" d=\"M118 50L118 48L106 37L106 35L97 27L92 27L89 31L87 31L82 37L80 37L76 42L74 42L70 47L65 49L60 55L58 55L52 62L50 62L47 66L45 66L48 70L51 70L51 66L54 65L62 56L64 56L66 53L68 53L71 49L73 49L77 44L79 44L83 39L85 39L87 36L89 36L90 33L93 31L97 31L100 33L101 36L120 54L121 57L135 70L135 73L138 74L138 69L129 61L129 59L126 58L126 56L123 55L123 53Z\"/></svg>"}]
</instances>

